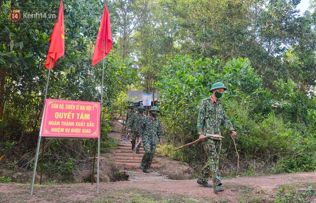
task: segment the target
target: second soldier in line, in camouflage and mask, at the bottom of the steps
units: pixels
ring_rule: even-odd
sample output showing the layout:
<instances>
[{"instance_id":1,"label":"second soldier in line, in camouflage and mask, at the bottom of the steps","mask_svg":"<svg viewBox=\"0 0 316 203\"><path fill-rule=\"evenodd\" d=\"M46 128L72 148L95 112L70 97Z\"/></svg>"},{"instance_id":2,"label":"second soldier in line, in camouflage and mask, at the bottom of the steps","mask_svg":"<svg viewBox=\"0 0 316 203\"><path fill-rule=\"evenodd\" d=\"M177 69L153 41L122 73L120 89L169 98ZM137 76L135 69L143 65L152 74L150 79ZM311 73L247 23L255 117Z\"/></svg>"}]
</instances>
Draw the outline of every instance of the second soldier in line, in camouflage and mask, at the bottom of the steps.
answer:
<instances>
[{"instance_id":1,"label":"second soldier in line, in camouflage and mask, at the bottom of the steps","mask_svg":"<svg viewBox=\"0 0 316 203\"><path fill-rule=\"evenodd\" d=\"M146 173L150 173L149 169L152 165L158 140L159 144L162 144L160 121L158 118L156 118L158 112L159 109L157 106L151 107L149 110L150 116L145 118L141 126L141 137L139 140L143 141L144 143L145 154L143 156L140 168Z\"/></svg>"}]
</instances>

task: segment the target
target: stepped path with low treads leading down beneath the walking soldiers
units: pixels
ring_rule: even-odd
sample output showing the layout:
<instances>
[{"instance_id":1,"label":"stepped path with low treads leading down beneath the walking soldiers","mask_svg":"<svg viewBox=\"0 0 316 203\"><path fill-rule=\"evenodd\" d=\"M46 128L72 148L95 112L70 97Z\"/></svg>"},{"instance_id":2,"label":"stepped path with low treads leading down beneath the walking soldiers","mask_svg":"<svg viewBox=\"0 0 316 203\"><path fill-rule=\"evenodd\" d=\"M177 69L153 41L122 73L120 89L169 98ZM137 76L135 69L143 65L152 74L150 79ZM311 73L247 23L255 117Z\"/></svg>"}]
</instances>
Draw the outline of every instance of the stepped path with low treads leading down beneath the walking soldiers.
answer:
<instances>
[{"instance_id":1,"label":"stepped path with low treads leading down beneath the walking soldiers","mask_svg":"<svg viewBox=\"0 0 316 203\"><path fill-rule=\"evenodd\" d=\"M125 143L123 138L126 138L126 130L122 130L121 136L118 140L117 149L114 151L114 163L118 168L122 169L126 174L128 174L128 180L167 180L166 175L159 174L155 172L155 168L159 168L159 163L157 159L153 159L151 166L151 173L144 173L142 169L139 168L143 155L145 154L143 143L140 148L140 154L135 154L133 158L133 150L131 143ZM129 137L131 140L131 137Z\"/></svg>"}]
</instances>

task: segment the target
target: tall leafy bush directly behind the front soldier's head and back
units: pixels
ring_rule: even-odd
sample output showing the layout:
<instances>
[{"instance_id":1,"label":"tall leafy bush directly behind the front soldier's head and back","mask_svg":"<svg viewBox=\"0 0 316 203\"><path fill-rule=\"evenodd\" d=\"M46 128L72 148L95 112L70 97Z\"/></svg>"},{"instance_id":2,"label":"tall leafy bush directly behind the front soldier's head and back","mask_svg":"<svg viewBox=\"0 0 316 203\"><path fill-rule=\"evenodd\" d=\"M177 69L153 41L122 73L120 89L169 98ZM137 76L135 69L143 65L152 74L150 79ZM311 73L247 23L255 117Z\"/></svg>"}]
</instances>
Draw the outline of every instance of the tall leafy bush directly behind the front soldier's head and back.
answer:
<instances>
[{"instance_id":1,"label":"tall leafy bush directly behind the front soldier's head and back","mask_svg":"<svg viewBox=\"0 0 316 203\"><path fill-rule=\"evenodd\" d=\"M194 61L186 56L175 58L162 70L156 88L162 100L159 107L166 133L170 135L168 140L184 144L197 138L197 104L210 96L209 88L217 81L223 81L229 87L230 94L225 94L224 101L252 92L261 84L249 61L244 59L225 65L218 59Z\"/></svg>"}]
</instances>

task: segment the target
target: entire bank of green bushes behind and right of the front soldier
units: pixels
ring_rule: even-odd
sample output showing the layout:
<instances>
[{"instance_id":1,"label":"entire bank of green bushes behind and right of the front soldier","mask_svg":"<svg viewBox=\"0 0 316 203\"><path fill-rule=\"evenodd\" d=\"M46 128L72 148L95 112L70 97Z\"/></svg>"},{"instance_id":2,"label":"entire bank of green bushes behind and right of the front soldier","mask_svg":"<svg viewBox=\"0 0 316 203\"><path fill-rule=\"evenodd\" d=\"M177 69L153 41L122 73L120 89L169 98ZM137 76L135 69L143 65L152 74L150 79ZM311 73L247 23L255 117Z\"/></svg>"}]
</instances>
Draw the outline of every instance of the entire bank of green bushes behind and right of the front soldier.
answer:
<instances>
[{"instance_id":1,"label":"entire bank of green bushes behind and right of the front soldier","mask_svg":"<svg viewBox=\"0 0 316 203\"><path fill-rule=\"evenodd\" d=\"M159 107L166 139L173 144L161 146L158 150L161 154L188 163L202 161L200 147L188 147L177 152L172 148L197 139L198 101L209 96L208 90L214 82L223 81L228 93L221 102L237 130L239 154L245 158L265 160L267 164L276 163L275 171L315 170L315 133L310 128L303 129L303 126L292 123L303 120L307 126L312 126L313 122L307 121L314 116L311 110L315 108L312 106L314 101L304 97L293 81L285 83L280 79L273 83L276 91L266 90L261 87L262 80L253 72L247 59L234 59L224 64L217 59L194 61L190 57L179 57L171 61L162 73L157 83L162 99ZM302 99L297 101L298 98ZM282 105L274 106L273 100ZM302 100L306 101L303 105ZM293 116L288 117L287 112L292 109L295 110L291 112ZM302 113L295 114L298 111ZM312 135L308 136L308 132ZM224 129L223 133L225 135ZM224 139L223 144L225 154L225 146L231 144L230 140ZM228 157L235 155L234 151L228 153ZM253 170L249 172L253 174Z\"/></svg>"}]
</instances>

